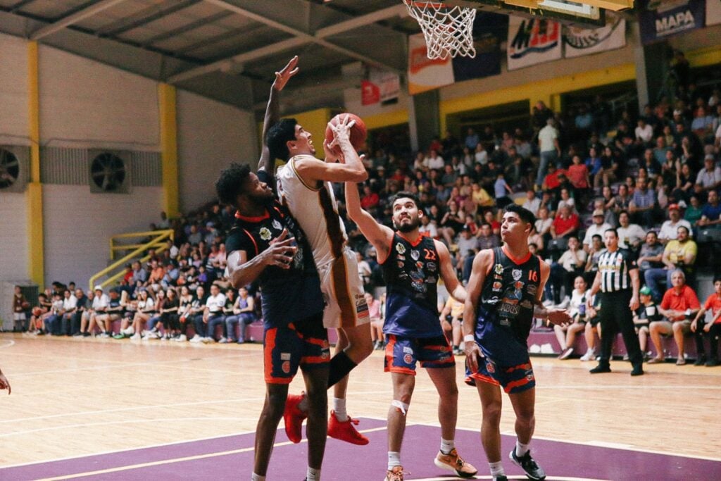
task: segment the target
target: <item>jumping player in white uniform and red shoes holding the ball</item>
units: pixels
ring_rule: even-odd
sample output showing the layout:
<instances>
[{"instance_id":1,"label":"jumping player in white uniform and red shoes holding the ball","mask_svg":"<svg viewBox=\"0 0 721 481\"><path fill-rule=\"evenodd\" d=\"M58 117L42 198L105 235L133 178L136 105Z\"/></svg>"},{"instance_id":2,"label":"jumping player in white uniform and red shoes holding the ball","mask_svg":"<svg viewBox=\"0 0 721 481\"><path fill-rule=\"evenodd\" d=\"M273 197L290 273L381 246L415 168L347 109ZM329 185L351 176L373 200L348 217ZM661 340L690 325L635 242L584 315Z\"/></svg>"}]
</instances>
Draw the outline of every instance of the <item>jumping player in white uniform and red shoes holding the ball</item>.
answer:
<instances>
[{"instance_id":1,"label":"jumping player in white uniform and red shoes holding the ball","mask_svg":"<svg viewBox=\"0 0 721 481\"><path fill-rule=\"evenodd\" d=\"M326 301L325 327L338 329L335 356L330 361L328 386L334 387L333 410L328 436L352 444L368 444L368 438L355 429L345 411L348 373L373 351L370 316L358 277L358 260L347 245L345 226L338 216L330 182L362 182L368 178L363 162L350 144L353 122L345 117L337 125L329 124L335 133L332 144L340 146L344 162L323 142L325 161L316 159L311 133L295 119L275 123L267 134L270 159L287 159L278 169L278 195L298 221L309 239L321 278ZM286 403L286 433L293 442L301 440L304 419L303 396L289 396Z\"/></svg>"}]
</instances>

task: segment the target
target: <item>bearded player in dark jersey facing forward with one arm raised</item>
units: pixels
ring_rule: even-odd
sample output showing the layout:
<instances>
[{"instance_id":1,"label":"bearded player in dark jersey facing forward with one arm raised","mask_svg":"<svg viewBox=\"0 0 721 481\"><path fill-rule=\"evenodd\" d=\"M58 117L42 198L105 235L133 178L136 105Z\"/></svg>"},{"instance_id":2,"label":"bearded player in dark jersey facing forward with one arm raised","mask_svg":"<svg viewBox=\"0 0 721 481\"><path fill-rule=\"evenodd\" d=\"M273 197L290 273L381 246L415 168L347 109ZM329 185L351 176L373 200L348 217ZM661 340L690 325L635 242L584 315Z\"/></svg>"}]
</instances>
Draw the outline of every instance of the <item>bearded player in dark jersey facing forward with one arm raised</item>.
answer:
<instances>
[{"instance_id":1,"label":"bearded player in dark jersey facing forward with one arm raised","mask_svg":"<svg viewBox=\"0 0 721 481\"><path fill-rule=\"evenodd\" d=\"M400 451L406 413L415 387L417 361L427 368L438 392L441 451L435 456L435 465L460 477L473 477L477 469L461 459L454 444L458 413L456 361L438 322L436 284L439 276L451 296L461 302L466 299L466 290L456 277L448 248L420 235L418 227L423 211L412 193L397 193L391 199L396 232L363 211L355 182L345 183L345 201L348 216L376 248L386 280L385 371L391 373L393 381L393 401L388 411L386 481L403 480Z\"/></svg>"}]
</instances>

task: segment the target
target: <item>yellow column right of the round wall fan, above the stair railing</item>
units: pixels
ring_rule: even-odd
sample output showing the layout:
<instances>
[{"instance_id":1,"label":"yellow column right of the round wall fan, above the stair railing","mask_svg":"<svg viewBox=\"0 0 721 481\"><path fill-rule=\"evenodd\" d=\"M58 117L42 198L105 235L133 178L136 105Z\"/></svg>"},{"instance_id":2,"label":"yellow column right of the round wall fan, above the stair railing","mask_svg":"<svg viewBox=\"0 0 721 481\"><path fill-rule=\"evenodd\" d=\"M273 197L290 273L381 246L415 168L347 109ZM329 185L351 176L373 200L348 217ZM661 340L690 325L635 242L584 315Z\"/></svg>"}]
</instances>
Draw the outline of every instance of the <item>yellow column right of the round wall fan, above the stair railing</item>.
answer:
<instances>
[{"instance_id":1,"label":"yellow column right of the round wall fan, above the stair railing","mask_svg":"<svg viewBox=\"0 0 721 481\"><path fill-rule=\"evenodd\" d=\"M178 194L178 144L175 87L158 85L160 149L163 166L163 204L168 217L180 215Z\"/></svg>"}]
</instances>

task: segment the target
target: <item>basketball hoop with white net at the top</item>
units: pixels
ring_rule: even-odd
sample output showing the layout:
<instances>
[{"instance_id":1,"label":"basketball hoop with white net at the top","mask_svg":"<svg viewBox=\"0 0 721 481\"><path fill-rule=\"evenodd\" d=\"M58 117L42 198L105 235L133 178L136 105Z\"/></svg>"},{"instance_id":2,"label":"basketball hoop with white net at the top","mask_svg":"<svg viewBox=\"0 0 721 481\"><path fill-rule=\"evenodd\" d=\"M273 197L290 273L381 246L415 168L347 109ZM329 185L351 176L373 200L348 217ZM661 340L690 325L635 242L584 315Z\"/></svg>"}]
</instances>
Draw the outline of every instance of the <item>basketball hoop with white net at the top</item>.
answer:
<instances>
[{"instance_id":1,"label":"basketball hoop with white net at the top","mask_svg":"<svg viewBox=\"0 0 721 481\"><path fill-rule=\"evenodd\" d=\"M403 3L423 30L428 58L476 56L473 45L476 9L448 6L434 1L403 0Z\"/></svg>"}]
</instances>

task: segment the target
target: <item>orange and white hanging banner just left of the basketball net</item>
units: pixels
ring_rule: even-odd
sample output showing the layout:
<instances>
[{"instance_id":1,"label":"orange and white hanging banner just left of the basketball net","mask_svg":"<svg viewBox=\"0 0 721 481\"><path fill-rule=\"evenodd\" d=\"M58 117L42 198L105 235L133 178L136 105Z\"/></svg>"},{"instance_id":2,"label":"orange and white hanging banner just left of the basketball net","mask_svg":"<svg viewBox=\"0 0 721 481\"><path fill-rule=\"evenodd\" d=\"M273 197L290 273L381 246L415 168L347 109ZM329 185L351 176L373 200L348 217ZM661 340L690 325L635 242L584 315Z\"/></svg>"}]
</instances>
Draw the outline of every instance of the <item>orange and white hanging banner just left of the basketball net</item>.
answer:
<instances>
[{"instance_id":1,"label":"orange and white hanging banner just left of the basketball net","mask_svg":"<svg viewBox=\"0 0 721 481\"><path fill-rule=\"evenodd\" d=\"M451 58L428 58L423 33L408 37L408 92L411 95L454 83Z\"/></svg>"}]
</instances>

